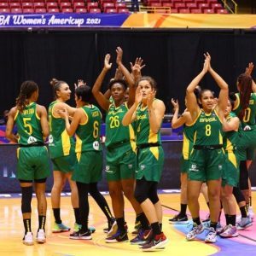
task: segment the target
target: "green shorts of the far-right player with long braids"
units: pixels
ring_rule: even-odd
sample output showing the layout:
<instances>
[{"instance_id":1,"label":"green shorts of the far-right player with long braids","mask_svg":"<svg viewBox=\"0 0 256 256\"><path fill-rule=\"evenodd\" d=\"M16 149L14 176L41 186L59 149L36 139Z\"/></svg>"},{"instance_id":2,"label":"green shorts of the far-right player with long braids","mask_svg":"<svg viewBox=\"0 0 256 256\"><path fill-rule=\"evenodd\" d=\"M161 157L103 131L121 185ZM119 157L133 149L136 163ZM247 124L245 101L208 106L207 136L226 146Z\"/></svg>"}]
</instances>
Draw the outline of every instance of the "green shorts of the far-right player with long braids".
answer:
<instances>
[{"instance_id":1,"label":"green shorts of the far-right player with long braids","mask_svg":"<svg viewBox=\"0 0 256 256\"><path fill-rule=\"evenodd\" d=\"M256 158L256 130L241 131L236 148L239 160L254 160Z\"/></svg>"}]
</instances>

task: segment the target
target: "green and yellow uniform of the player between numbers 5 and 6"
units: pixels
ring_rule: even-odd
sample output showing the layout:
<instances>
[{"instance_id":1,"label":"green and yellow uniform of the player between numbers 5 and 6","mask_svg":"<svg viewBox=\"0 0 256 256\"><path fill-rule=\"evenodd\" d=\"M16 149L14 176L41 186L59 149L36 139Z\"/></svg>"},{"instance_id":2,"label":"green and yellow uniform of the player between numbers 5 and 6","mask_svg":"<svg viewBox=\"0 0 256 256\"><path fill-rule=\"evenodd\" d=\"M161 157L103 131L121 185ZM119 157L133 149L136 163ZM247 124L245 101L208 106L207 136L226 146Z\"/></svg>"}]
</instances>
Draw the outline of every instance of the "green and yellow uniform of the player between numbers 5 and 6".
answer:
<instances>
[{"instance_id":1,"label":"green and yellow uniform of the player between numbers 5 and 6","mask_svg":"<svg viewBox=\"0 0 256 256\"><path fill-rule=\"evenodd\" d=\"M54 115L56 103L49 104L49 157L55 171L72 172L76 160L74 140L67 134L65 120Z\"/></svg>"}]
</instances>

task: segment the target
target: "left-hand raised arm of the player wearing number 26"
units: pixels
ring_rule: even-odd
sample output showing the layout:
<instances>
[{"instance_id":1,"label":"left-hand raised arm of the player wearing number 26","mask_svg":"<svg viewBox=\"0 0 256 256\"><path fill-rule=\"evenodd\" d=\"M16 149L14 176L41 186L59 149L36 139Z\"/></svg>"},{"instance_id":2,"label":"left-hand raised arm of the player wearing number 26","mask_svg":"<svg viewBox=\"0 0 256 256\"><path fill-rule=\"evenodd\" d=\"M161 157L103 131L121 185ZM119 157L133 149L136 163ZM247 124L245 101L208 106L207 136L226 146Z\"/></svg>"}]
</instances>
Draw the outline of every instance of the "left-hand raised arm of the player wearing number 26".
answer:
<instances>
[{"instance_id":1,"label":"left-hand raised arm of the player wearing number 26","mask_svg":"<svg viewBox=\"0 0 256 256\"><path fill-rule=\"evenodd\" d=\"M110 102L108 101L108 98L106 98L102 92L101 92L101 88L102 88L102 82L103 79L106 76L106 73L108 73L108 70L112 67L112 63L109 63L110 60L110 55L105 55L105 59L104 59L104 67L102 69L102 72L99 74L99 76L96 79L95 84L92 87L92 94L93 96L95 96L96 101L99 103L99 105L106 111L108 111L108 107Z\"/></svg>"}]
</instances>

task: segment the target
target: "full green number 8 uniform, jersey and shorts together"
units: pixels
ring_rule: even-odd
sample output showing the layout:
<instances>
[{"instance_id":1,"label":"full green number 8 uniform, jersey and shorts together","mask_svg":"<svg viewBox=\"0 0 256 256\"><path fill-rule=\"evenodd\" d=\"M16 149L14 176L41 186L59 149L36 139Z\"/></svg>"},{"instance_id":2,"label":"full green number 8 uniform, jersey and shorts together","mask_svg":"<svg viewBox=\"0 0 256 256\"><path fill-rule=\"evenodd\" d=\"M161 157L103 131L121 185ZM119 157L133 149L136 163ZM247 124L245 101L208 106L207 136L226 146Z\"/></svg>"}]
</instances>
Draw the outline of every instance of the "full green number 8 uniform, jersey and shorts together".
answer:
<instances>
[{"instance_id":1,"label":"full green number 8 uniform, jersey and shorts together","mask_svg":"<svg viewBox=\"0 0 256 256\"><path fill-rule=\"evenodd\" d=\"M206 182L222 177L224 148L222 124L215 110L202 109L193 122L194 146L189 158L189 179Z\"/></svg>"}]
</instances>

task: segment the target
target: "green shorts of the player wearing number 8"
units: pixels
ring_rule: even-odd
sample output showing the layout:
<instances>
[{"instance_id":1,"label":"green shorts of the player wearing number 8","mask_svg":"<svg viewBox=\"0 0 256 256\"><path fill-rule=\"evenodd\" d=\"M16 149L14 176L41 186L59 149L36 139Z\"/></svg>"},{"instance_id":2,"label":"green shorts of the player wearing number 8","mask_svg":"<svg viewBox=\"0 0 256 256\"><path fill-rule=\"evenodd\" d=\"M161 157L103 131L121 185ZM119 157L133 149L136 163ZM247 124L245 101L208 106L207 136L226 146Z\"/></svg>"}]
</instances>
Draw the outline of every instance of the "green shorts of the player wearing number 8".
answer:
<instances>
[{"instance_id":1,"label":"green shorts of the player wearing number 8","mask_svg":"<svg viewBox=\"0 0 256 256\"><path fill-rule=\"evenodd\" d=\"M222 177L225 155L223 148L193 149L189 159L189 180L207 182Z\"/></svg>"}]
</instances>

